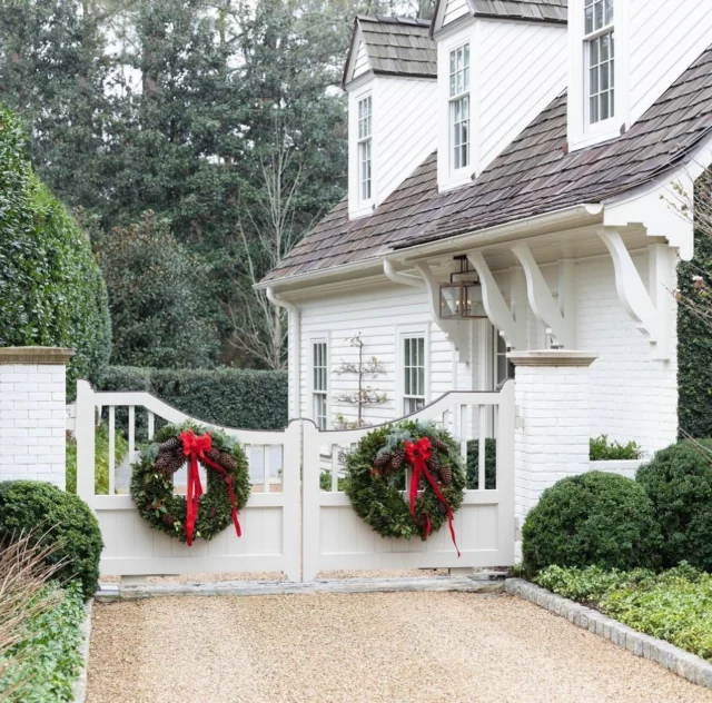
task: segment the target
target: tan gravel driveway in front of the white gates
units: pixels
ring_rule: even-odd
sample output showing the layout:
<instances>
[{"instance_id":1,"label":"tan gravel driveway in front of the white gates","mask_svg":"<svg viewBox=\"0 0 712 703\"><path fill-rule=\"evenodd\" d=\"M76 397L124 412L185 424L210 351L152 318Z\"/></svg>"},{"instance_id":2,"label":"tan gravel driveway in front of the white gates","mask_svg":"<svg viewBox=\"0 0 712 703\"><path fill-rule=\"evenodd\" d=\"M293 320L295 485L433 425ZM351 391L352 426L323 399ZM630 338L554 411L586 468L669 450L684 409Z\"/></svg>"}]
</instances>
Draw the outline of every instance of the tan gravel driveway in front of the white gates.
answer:
<instances>
[{"instance_id":1,"label":"tan gravel driveway in front of the white gates","mask_svg":"<svg viewBox=\"0 0 712 703\"><path fill-rule=\"evenodd\" d=\"M712 691L506 595L95 604L88 703L696 703Z\"/></svg>"}]
</instances>

